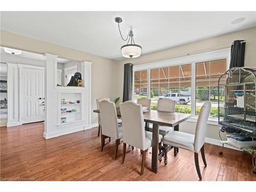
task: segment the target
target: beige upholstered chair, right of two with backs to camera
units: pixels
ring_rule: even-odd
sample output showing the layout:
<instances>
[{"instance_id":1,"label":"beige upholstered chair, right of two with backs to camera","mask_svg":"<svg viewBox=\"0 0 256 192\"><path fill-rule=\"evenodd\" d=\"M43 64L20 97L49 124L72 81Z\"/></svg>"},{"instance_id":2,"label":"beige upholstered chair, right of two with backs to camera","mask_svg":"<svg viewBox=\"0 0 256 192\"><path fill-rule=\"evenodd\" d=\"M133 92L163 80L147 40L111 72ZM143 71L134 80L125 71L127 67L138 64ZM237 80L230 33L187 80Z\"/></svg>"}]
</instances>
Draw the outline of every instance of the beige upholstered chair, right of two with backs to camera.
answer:
<instances>
[{"instance_id":1,"label":"beige upholstered chair, right of two with backs to camera","mask_svg":"<svg viewBox=\"0 0 256 192\"><path fill-rule=\"evenodd\" d=\"M123 157L121 164L124 163L126 154L126 144L142 150L142 163L140 175L144 173L144 164L146 150L152 146L152 133L145 131L143 110L140 104L133 101L125 101L120 103L120 112L123 125ZM159 143L162 141L162 136L158 136Z\"/></svg>"}]
</instances>

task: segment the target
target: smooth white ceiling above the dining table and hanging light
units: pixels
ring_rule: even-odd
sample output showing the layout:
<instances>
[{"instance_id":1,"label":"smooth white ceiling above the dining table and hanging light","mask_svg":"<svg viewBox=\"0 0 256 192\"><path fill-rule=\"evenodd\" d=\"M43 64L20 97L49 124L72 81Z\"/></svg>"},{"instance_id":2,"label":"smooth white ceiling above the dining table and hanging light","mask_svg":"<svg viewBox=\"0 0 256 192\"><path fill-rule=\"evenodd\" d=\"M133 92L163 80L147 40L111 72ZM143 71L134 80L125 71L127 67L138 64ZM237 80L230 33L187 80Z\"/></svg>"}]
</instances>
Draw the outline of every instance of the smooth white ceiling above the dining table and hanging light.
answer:
<instances>
[{"instance_id":1,"label":"smooth white ceiling above the dining table and hanging light","mask_svg":"<svg viewBox=\"0 0 256 192\"><path fill-rule=\"evenodd\" d=\"M1 29L112 59L134 29L142 54L256 26L256 12L1 12ZM246 17L239 24L234 19ZM231 43L231 42L230 42Z\"/></svg>"}]
</instances>

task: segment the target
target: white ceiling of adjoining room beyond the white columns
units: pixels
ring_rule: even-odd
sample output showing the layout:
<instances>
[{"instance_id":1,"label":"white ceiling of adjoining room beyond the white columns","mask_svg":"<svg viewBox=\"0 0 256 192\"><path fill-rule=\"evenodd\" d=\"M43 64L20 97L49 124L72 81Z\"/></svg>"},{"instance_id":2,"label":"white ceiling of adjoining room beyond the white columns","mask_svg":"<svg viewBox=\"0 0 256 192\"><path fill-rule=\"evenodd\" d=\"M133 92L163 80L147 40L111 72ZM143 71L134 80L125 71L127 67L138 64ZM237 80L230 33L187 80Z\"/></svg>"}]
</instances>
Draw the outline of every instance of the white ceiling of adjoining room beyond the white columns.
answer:
<instances>
[{"instance_id":1,"label":"white ceiling of adjoining room beyond the white columns","mask_svg":"<svg viewBox=\"0 0 256 192\"><path fill-rule=\"evenodd\" d=\"M6 55L11 55L10 53L6 53L3 47L0 47L0 53L1 54L6 54ZM13 55L14 57L16 55ZM25 58L30 58L30 59L36 59L36 60L45 60L44 55L42 54L38 54L38 53L31 53L31 52L27 52L27 51L22 51L22 54L17 55L19 57L25 57ZM67 63L69 62L69 59L64 59L64 58L57 58L57 62L58 63Z\"/></svg>"}]
</instances>

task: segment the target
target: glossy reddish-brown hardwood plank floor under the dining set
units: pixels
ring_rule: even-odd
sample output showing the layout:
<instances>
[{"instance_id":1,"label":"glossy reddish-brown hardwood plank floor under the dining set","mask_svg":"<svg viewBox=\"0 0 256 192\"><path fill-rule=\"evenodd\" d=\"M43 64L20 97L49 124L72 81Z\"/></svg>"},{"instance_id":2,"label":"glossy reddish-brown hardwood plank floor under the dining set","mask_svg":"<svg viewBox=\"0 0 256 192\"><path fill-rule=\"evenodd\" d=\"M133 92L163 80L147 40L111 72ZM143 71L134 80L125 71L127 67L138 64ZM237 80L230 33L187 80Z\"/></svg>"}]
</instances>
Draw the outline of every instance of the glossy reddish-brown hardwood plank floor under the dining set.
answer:
<instances>
[{"instance_id":1,"label":"glossy reddish-brown hardwood plank floor under the dining set","mask_svg":"<svg viewBox=\"0 0 256 192\"><path fill-rule=\"evenodd\" d=\"M151 150L146 153L144 175L140 176L140 150L127 147L124 164L122 141L114 160L115 140L106 140L100 152L98 127L52 139L44 139L41 122L1 127L1 180L84 180L84 181L198 181L194 153L180 150L168 153L168 164L159 163L159 172L151 172ZM201 154L199 163L203 181L256 181L251 172L251 157L242 152L205 143L207 167Z\"/></svg>"}]
</instances>

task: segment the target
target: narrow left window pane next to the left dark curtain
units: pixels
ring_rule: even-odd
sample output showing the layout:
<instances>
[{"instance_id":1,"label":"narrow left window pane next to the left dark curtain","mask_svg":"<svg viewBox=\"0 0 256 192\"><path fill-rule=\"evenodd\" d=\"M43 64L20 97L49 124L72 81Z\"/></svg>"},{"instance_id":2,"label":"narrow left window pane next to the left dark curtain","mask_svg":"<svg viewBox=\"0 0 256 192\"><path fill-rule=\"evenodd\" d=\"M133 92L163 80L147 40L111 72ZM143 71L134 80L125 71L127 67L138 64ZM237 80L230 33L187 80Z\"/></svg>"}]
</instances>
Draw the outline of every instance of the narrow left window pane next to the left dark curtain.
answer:
<instances>
[{"instance_id":1,"label":"narrow left window pane next to the left dark curtain","mask_svg":"<svg viewBox=\"0 0 256 192\"><path fill-rule=\"evenodd\" d=\"M134 101L147 97L147 70L134 73Z\"/></svg>"}]
</instances>

